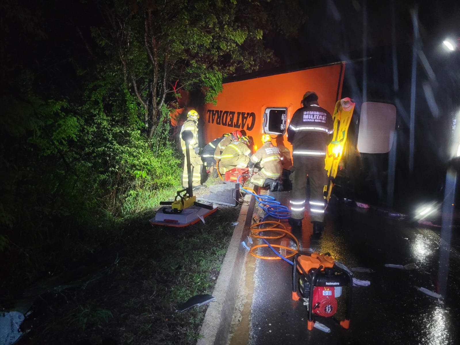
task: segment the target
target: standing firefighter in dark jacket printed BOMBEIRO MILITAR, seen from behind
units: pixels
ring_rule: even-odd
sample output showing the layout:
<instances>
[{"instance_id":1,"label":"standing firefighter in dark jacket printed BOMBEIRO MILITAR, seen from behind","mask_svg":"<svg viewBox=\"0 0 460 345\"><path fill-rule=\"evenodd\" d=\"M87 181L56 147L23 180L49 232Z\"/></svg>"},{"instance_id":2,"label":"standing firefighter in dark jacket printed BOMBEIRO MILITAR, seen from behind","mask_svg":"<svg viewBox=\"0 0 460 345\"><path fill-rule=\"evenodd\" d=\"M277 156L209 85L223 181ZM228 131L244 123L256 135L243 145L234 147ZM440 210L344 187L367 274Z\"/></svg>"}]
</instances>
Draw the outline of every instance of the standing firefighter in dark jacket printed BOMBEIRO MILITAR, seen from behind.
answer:
<instances>
[{"instance_id":1,"label":"standing firefighter in dark jacket printed BOMBEIRO MILITAR, seen from behind","mask_svg":"<svg viewBox=\"0 0 460 345\"><path fill-rule=\"evenodd\" d=\"M306 92L302 98L302 108L297 109L289 123L288 141L293 146L293 167L291 212L288 222L293 228L302 227L305 210L307 174L310 180L310 219L313 232L324 229L323 187L327 173L324 159L328 144L333 138L334 123L329 112L318 105L315 92Z\"/></svg>"}]
</instances>

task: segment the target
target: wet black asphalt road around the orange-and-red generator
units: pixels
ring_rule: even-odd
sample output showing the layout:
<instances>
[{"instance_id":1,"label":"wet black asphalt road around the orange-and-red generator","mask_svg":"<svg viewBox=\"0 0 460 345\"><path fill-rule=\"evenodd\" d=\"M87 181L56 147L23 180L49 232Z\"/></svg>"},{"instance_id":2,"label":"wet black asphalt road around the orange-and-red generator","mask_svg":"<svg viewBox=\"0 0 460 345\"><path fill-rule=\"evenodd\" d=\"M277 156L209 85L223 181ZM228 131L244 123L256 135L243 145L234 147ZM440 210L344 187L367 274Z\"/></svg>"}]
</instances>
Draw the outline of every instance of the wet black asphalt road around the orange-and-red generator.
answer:
<instances>
[{"instance_id":1,"label":"wet black asphalt road around the orange-and-red generator","mask_svg":"<svg viewBox=\"0 0 460 345\"><path fill-rule=\"evenodd\" d=\"M271 193L288 205L289 192ZM256 207L254 213L264 215ZM333 318L316 317L330 333L307 329L307 311L291 299L292 266L282 260L256 259L248 343L258 344L458 344L460 341L460 254L453 230L449 267L439 267L439 228L421 227L390 219L354 205L330 203L326 229L311 236L308 211L303 229L293 232L301 249L311 248L332 256L348 268L365 267L374 273L354 272L368 287L353 287L350 328L341 328ZM284 224L290 229L287 221ZM287 242L287 237L270 243ZM257 243L257 241L254 241ZM282 244L282 243L281 243ZM293 242L291 242L293 247ZM249 255L249 254L248 254ZM259 255L270 249L259 248ZM291 259L292 260L292 259ZM385 264L414 263L414 270L385 267ZM436 299L417 290L424 287L446 291ZM338 299L344 318L345 291Z\"/></svg>"}]
</instances>

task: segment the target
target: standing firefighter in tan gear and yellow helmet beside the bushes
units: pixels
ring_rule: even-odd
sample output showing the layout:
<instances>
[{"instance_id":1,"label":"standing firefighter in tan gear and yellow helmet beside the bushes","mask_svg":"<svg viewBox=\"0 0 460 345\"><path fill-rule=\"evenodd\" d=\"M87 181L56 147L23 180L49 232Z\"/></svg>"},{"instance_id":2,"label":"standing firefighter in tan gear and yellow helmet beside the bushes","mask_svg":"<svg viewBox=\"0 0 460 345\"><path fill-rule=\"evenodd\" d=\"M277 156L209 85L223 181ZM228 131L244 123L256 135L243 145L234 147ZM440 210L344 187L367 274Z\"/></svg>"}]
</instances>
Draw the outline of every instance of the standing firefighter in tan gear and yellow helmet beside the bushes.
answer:
<instances>
[{"instance_id":1,"label":"standing firefighter in tan gear and yellow helmet beside the bushes","mask_svg":"<svg viewBox=\"0 0 460 345\"><path fill-rule=\"evenodd\" d=\"M203 168L203 162L201 161L199 152L200 147L198 145L198 119L200 115L196 110L190 110L187 113L187 120L185 120L180 130L180 145L182 146L182 153L185 156L185 141L182 139L182 132L190 131L193 133L193 138L189 143L190 151L190 173L192 174L192 186L194 188L201 187L201 169ZM182 173L182 186L187 188L189 185L189 177L187 174L187 159L184 158L184 172Z\"/></svg>"}]
</instances>

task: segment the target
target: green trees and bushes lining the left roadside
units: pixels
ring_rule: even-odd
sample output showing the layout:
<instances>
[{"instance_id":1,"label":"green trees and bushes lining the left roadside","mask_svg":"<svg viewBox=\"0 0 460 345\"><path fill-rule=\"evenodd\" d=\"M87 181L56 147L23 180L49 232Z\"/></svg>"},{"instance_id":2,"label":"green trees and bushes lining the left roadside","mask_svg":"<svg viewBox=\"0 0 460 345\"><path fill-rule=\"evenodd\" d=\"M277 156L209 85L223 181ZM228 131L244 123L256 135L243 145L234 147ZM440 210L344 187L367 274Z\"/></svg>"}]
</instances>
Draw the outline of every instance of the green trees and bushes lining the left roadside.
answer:
<instances>
[{"instance_id":1,"label":"green trees and bushes lining the left roadside","mask_svg":"<svg viewBox=\"0 0 460 345\"><path fill-rule=\"evenodd\" d=\"M192 88L213 100L224 76L273 61L266 35L300 20L294 0L50 1L0 4L0 261L21 265L18 281L173 195L170 101Z\"/></svg>"}]
</instances>

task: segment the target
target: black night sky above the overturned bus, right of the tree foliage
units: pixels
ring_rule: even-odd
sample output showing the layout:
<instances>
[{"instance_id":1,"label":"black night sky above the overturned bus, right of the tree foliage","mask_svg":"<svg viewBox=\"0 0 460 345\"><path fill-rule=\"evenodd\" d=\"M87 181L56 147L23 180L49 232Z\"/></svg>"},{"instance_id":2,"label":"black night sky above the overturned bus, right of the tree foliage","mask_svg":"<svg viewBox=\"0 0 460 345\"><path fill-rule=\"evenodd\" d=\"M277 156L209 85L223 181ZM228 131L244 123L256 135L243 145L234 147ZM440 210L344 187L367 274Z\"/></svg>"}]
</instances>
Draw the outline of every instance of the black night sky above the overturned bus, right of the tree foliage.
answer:
<instances>
[{"instance_id":1,"label":"black night sky above the overturned bus, right of the tree foliage","mask_svg":"<svg viewBox=\"0 0 460 345\"><path fill-rule=\"evenodd\" d=\"M363 34L366 13L369 49L391 45L393 20L396 43L411 42L413 24L410 10L415 7L418 8L420 35L426 44L447 36L460 36L459 1L324 0L301 3L305 24L299 31L299 37L285 40L276 35L268 40L284 65L302 62L308 65L308 62L316 63L325 57L361 54L366 37Z\"/></svg>"}]
</instances>

